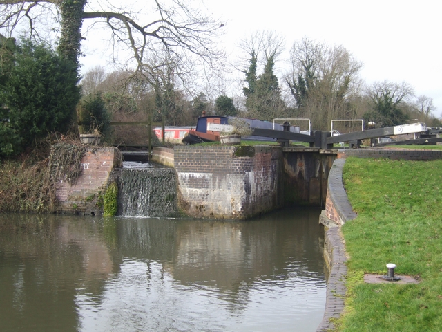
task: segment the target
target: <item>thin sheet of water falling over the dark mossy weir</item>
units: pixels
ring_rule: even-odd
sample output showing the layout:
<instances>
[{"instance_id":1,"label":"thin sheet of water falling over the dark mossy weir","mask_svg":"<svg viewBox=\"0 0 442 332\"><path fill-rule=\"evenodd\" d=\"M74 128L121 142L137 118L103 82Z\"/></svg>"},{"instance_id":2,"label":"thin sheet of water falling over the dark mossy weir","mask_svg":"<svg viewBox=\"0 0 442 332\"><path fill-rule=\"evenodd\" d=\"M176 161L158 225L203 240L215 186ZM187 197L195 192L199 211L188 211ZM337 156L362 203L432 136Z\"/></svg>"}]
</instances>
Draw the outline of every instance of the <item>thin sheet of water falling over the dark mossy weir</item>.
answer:
<instances>
[{"instance_id":1,"label":"thin sheet of water falling over the dark mossy weir","mask_svg":"<svg viewBox=\"0 0 442 332\"><path fill-rule=\"evenodd\" d=\"M115 170L118 215L177 216L175 172L171 168L123 167Z\"/></svg>"}]
</instances>

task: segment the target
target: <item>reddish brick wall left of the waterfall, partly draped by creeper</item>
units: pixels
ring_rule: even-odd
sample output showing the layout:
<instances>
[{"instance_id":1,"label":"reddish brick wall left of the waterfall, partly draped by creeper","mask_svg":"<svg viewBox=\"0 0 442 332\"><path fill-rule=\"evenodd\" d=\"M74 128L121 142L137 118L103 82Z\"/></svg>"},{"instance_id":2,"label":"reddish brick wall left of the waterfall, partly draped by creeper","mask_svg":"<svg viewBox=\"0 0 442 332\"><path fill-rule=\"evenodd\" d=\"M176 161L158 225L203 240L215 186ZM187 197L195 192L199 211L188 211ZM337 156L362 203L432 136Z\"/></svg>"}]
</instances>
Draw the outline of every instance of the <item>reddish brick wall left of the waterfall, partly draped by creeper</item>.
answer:
<instances>
[{"instance_id":1,"label":"reddish brick wall left of the waterfall, partly draped by creeper","mask_svg":"<svg viewBox=\"0 0 442 332\"><path fill-rule=\"evenodd\" d=\"M81 173L74 185L66 181L56 184L57 212L97 214L100 192L104 192L114 167L122 164L122 155L115 147L89 147L81 158Z\"/></svg>"}]
</instances>

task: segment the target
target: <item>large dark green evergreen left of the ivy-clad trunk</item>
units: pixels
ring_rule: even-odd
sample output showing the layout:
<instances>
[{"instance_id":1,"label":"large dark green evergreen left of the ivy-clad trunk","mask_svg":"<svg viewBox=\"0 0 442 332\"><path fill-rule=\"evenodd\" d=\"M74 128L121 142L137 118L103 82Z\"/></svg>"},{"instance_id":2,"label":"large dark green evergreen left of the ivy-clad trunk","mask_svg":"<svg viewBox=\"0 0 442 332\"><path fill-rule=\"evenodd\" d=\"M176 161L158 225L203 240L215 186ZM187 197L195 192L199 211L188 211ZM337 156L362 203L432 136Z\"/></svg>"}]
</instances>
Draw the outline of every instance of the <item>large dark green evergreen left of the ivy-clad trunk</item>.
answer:
<instances>
[{"instance_id":1,"label":"large dark green evergreen left of the ivy-clad trunk","mask_svg":"<svg viewBox=\"0 0 442 332\"><path fill-rule=\"evenodd\" d=\"M17 154L48 132L66 132L74 115L66 109L80 99L75 64L46 46L21 41L9 71L0 82L0 131L12 131L18 140L11 147L2 137L0 149Z\"/></svg>"}]
</instances>

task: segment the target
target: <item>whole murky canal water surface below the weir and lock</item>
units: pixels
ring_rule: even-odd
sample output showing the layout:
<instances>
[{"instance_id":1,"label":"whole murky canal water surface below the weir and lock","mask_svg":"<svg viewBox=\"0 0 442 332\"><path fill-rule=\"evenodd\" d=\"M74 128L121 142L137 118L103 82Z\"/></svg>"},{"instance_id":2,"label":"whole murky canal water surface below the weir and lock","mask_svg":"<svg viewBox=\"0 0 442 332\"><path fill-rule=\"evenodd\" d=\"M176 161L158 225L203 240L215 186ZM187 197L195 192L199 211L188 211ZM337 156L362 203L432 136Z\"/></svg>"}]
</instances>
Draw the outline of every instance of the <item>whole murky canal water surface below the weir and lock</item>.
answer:
<instances>
[{"instance_id":1,"label":"whole murky canal water surface below the weir and lock","mask_svg":"<svg viewBox=\"0 0 442 332\"><path fill-rule=\"evenodd\" d=\"M315 331L326 290L319 213L0 214L0 330Z\"/></svg>"}]
</instances>

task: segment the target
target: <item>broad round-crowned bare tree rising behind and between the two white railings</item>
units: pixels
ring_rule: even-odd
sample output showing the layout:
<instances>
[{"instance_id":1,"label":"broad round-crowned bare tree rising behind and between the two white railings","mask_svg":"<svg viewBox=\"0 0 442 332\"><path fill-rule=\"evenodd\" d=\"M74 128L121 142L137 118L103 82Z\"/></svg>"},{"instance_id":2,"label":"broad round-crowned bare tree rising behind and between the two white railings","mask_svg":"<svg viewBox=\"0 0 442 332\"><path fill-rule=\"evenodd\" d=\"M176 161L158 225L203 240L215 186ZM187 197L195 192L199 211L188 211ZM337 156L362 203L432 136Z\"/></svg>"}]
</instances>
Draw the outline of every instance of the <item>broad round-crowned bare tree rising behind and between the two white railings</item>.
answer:
<instances>
[{"instance_id":1,"label":"broad round-crowned bare tree rising behind and between the two white railings","mask_svg":"<svg viewBox=\"0 0 442 332\"><path fill-rule=\"evenodd\" d=\"M291 48L291 73L285 78L298 116L310 118L316 129L329 129L333 119L349 119L361 86L362 68L343 46L329 46L307 37Z\"/></svg>"}]
</instances>

